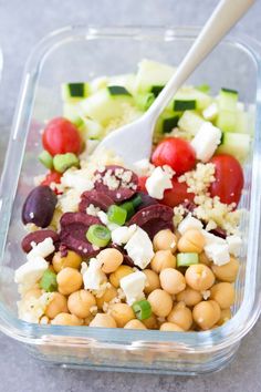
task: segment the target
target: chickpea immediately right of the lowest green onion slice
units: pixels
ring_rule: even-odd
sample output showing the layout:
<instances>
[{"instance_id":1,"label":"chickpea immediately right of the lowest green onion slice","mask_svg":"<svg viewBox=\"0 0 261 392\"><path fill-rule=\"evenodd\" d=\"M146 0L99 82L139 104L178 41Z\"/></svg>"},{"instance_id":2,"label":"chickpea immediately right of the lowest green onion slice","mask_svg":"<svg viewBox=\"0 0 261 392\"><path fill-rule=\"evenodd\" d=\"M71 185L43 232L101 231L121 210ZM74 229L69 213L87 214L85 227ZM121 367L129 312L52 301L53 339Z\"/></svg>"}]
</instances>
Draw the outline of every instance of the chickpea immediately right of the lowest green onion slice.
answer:
<instances>
[{"instance_id":1,"label":"chickpea immediately right of the lowest green onion slice","mask_svg":"<svg viewBox=\"0 0 261 392\"><path fill-rule=\"evenodd\" d=\"M152 306L153 313L157 317L166 317L173 308L173 298L167 291L156 289L150 292L147 300Z\"/></svg>"}]
</instances>

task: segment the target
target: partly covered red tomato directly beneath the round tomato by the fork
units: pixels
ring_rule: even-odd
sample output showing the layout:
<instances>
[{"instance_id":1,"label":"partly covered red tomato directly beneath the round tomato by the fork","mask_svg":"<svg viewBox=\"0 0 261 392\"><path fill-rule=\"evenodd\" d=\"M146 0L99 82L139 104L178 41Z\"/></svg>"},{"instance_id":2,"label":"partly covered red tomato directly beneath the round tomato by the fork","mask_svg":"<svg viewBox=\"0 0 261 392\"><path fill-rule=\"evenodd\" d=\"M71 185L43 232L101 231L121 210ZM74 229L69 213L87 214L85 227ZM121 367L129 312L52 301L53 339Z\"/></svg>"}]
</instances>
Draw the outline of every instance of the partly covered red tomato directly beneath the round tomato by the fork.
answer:
<instances>
[{"instance_id":1,"label":"partly covered red tomato directly beneath the round tomato by the fork","mask_svg":"<svg viewBox=\"0 0 261 392\"><path fill-rule=\"evenodd\" d=\"M185 200L194 202L195 194L188 192L186 183L179 183L177 177L171 179L173 188L166 189L163 200L160 203L169 207L176 207Z\"/></svg>"}]
</instances>

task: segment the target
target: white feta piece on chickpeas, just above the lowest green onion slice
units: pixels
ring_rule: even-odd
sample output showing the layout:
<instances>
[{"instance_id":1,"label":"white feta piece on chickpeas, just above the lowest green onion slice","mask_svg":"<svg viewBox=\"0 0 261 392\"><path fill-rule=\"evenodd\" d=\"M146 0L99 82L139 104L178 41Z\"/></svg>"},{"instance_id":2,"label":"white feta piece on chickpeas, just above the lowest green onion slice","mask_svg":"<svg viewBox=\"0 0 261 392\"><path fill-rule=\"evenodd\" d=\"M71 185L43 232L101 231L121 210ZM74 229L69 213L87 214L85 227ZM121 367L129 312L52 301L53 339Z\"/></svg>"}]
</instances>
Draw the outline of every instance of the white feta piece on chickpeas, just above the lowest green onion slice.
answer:
<instances>
[{"instance_id":1,"label":"white feta piece on chickpeas, just above the lowest green onion slice","mask_svg":"<svg viewBox=\"0 0 261 392\"><path fill-rule=\"evenodd\" d=\"M144 288L146 283L146 275L142 271L133 272L119 280L126 301L132 306L135 301L144 298Z\"/></svg>"}]
</instances>

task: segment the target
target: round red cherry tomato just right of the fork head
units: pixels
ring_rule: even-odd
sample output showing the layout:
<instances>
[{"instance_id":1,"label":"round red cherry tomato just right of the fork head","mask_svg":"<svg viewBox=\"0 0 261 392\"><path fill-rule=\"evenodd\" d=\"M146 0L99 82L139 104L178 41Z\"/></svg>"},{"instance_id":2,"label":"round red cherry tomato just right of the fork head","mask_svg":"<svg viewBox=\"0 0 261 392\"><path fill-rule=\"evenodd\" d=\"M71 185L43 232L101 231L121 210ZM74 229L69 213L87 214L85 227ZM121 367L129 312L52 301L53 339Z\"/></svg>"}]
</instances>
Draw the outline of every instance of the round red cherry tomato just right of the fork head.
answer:
<instances>
[{"instance_id":1,"label":"round red cherry tomato just right of the fork head","mask_svg":"<svg viewBox=\"0 0 261 392\"><path fill-rule=\"evenodd\" d=\"M195 167L196 154L187 141L167 137L155 148L152 162L155 166L168 165L180 175Z\"/></svg>"}]
</instances>

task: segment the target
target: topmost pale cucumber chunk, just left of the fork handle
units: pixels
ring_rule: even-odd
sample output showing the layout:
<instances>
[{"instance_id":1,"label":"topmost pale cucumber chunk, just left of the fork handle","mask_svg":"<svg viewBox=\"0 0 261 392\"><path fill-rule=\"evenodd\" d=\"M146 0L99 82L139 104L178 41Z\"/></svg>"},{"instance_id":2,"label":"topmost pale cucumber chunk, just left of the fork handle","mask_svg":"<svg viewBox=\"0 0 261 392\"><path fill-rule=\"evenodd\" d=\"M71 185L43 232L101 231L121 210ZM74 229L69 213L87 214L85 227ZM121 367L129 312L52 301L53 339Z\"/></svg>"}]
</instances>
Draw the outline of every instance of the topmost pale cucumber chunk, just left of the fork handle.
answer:
<instances>
[{"instance_id":1,"label":"topmost pale cucumber chunk, just left of the fork handle","mask_svg":"<svg viewBox=\"0 0 261 392\"><path fill-rule=\"evenodd\" d=\"M173 76L175 68L144 59L138 64L136 92L152 92L153 86L164 86Z\"/></svg>"}]
</instances>

